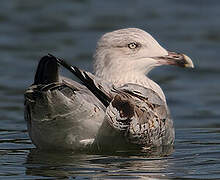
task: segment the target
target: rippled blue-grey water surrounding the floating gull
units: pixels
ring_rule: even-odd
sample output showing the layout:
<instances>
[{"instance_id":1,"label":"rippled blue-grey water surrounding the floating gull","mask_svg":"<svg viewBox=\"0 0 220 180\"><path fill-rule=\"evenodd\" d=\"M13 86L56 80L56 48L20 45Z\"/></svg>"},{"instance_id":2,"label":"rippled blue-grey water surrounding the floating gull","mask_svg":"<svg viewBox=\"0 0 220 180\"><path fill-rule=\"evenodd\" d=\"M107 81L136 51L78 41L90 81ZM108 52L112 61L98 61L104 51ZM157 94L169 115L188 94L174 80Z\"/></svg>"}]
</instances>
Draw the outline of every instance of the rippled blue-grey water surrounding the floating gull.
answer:
<instances>
[{"instance_id":1,"label":"rippled blue-grey water surrounding the floating gull","mask_svg":"<svg viewBox=\"0 0 220 180\"><path fill-rule=\"evenodd\" d=\"M217 0L1 0L0 179L220 179L219 7ZM27 135L23 92L39 58L49 52L91 71L97 39L124 27L145 29L195 63L195 70L151 73L175 122L173 152L38 152Z\"/></svg>"}]
</instances>

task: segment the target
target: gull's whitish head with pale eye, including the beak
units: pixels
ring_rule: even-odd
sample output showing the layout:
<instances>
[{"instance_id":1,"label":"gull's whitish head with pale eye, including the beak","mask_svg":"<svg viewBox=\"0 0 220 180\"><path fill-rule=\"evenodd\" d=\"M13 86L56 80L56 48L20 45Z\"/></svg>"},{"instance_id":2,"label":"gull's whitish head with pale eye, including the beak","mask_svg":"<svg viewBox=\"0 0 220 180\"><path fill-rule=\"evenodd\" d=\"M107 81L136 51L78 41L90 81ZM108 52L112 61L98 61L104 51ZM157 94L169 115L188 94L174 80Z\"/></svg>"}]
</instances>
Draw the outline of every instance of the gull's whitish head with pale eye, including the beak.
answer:
<instances>
[{"instance_id":1,"label":"gull's whitish head with pale eye, including the beak","mask_svg":"<svg viewBox=\"0 0 220 180\"><path fill-rule=\"evenodd\" d=\"M149 33L138 28L104 34L97 43L94 59L95 74L109 81L118 76L142 77L160 65L194 67L188 56L167 51Z\"/></svg>"}]
</instances>

